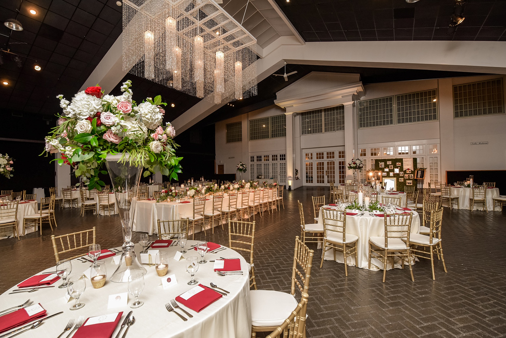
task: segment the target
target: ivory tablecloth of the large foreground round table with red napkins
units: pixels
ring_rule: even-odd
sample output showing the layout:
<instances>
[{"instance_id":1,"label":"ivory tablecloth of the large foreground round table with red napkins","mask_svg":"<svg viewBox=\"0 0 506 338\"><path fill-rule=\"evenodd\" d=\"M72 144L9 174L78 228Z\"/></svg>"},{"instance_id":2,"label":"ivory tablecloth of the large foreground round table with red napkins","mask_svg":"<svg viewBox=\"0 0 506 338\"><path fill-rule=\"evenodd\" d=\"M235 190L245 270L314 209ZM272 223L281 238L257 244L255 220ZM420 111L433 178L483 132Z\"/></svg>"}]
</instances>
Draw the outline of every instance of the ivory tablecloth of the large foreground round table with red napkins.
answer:
<instances>
[{"instance_id":1,"label":"ivory tablecloth of the large foreground round table with red napkins","mask_svg":"<svg viewBox=\"0 0 506 338\"><path fill-rule=\"evenodd\" d=\"M196 244L197 241L189 240L185 246L188 253L183 254L184 257L198 256L196 250L190 250L190 244ZM139 244L136 244L135 251L137 258L139 259L139 252L141 251ZM134 297L129 295L129 301L127 306L107 309L108 298L111 294L117 294L121 292L128 292L128 283L113 283L109 280L111 274L116 269L116 265L113 263L112 258L105 259L107 266L107 281L104 287L94 289L88 278L86 279L86 290L81 295L80 302L85 303L85 307L71 311L70 306L73 305L74 300L71 299L69 302L65 300L66 289L59 289L58 287L50 287L44 289L38 289L35 292L8 294L16 286L12 287L8 291L0 295L0 304L2 307L0 310L7 309L13 306L24 303L27 299L31 299L34 303L40 303L40 305L47 310L48 315L52 315L63 311L62 314L44 321L39 327L30 330L26 333L22 333L20 338L36 336L38 338L57 337L65 328L70 319L77 320L79 316L88 317L101 316L106 314L112 314L122 311L123 315L114 330L112 337L119 331L120 324L131 310L135 316L135 323L128 331L127 337L238 337L238 338L249 338L251 335L251 306L249 301L249 274L248 266L244 258L238 254L235 250L227 248L226 250L220 251L219 254L206 254L205 260L219 259L219 257L225 258L239 258L241 261L241 270L243 275L229 275L219 276L213 271L213 262L207 262L200 264L198 271L195 273L195 279L200 284L209 286L211 282L217 284L219 287L224 288L230 293L225 297L218 299L216 302L210 304L200 312L195 312L182 304L180 307L184 308L187 312L193 315L193 318L189 318L188 321L183 321L175 313L170 313L165 309L165 304L175 299L178 295L188 291L194 285L188 285L187 282L190 280L190 274L186 272L186 260L179 262L172 259L176 250L181 250L180 246L170 246L160 250L168 252L170 257L169 269L167 276L175 274L177 284L163 289L161 285L161 278L155 272L155 267L148 267L143 265L148 271L144 276L145 286L142 293L139 295L139 300L144 302L144 305L137 308L131 309L130 305L134 302ZM200 257L200 256L199 256ZM77 276L83 273L87 268L90 267L90 263L80 263L77 260L72 261L72 272L70 276ZM48 268L45 271L55 271L55 267ZM42 273L42 272L41 272ZM38 273L40 274L40 273ZM20 281L21 282L21 281ZM53 285L59 286L62 281L59 280ZM177 310L179 313L182 311ZM122 333L124 332L124 329ZM65 333L64 336L66 336Z\"/></svg>"}]
</instances>

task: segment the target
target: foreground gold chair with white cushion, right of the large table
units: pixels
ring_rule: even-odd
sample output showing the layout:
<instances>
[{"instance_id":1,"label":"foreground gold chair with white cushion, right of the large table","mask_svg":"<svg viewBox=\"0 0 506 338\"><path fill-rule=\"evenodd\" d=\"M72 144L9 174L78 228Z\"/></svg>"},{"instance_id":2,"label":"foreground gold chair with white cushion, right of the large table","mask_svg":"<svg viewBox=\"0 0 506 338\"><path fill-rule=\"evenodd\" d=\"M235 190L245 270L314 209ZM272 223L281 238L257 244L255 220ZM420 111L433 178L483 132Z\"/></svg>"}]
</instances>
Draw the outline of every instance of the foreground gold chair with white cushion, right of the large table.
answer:
<instances>
[{"instance_id":1,"label":"foreground gold chair with white cushion, right of the large table","mask_svg":"<svg viewBox=\"0 0 506 338\"><path fill-rule=\"evenodd\" d=\"M257 332L275 330L277 326L283 324L285 319L290 316L291 311L298 305L294 297L296 288L301 294L309 294L313 256L314 251L310 250L297 236L295 238L290 293L272 290L249 291L251 337L256 337ZM301 280L299 281L298 278Z\"/></svg>"}]
</instances>

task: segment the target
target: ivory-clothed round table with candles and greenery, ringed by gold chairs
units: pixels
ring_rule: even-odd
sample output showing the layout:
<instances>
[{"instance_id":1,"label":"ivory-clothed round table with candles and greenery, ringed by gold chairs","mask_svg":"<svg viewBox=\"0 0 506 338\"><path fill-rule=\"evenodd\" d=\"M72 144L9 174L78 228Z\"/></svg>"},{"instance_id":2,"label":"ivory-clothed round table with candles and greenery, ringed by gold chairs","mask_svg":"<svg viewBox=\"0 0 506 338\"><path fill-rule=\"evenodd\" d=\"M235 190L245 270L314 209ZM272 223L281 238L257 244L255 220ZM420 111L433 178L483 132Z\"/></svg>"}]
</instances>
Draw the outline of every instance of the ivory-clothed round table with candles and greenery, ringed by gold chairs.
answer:
<instances>
[{"instance_id":1,"label":"ivory-clothed round table with candles and greenery, ringed by gold chairs","mask_svg":"<svg viewBox=\"0 0 506 338\"><path fill-rule=\"evenodd\" d=\"M325 208L336 209L335 206L324 205ZM401 210L396 210L396 213L403 213ZM359 214L360 215L360 214ZM323 217L320 208L320 215L318 216L318 224L323 224ZM419 233L420 230L420 217L418 213L413 212L411 219L410 233ZM385 236L385 220L383 217L372 216L372 213L364 212L363 216L346 216L346 233L358 236L357 242L357 255L358 267L369 268L369 237ZM318 248L321 248L322 243L318 243ZM325 260L333 260L333 250L329 249L325 252ZM344 263L342 254L336 252L336 262ZM355 265L355 257L350 256L347 259L348 265ZM377 259L372 259L371 270L379 270L378 267L383 267L383 264ZM395 268L400 268L400 260L395 262ZM392 269L391 261L387 264L387 270Z\"/></svg>"}]
</instances>

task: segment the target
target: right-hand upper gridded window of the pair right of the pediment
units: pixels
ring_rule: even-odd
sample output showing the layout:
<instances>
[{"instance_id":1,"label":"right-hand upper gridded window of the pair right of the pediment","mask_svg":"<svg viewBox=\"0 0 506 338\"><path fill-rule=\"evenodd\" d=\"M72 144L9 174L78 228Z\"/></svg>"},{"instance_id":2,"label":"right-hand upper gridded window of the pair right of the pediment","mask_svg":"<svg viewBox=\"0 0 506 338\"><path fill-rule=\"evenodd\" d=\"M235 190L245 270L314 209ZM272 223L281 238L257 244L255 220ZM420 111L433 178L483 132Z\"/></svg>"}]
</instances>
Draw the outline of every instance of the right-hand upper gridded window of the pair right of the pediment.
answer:
<instances>
[{"instance_id":1,"label":"right-hand upper gridded window of the pair right of the pediment","mask_svg":"<svg viewBox=\"0 0 506 338\"><path fill-rule=\"evenodd\" d=\"M397 123L438 119L437 91L396 95Z\"/></svg>"}]
</instances>

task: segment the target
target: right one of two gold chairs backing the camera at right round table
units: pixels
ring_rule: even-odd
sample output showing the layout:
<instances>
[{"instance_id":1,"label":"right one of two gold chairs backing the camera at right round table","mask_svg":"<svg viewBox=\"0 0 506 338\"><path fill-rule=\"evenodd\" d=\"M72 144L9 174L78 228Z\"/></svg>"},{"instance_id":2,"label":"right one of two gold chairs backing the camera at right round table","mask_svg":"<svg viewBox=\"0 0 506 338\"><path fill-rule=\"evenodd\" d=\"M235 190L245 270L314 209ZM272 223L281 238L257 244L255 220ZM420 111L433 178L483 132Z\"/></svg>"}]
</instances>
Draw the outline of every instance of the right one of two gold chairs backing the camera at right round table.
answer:
<instances>
[{"instance_id":1,"label":"right one of two gold chairs backing the camera at right round table","mask_svg":"<svg viewBox=\"0 0 506 338\"><path fill-rule=\"evenodd\" d=\"M373 258L383 264L383 282L387 276L387 263L391 258L392 268L394 258L401 258L401 268L404 269L404 260L407 258L411 281L414 282L413 268L411 267L411 254L409 251L409 236L411 230L412 213L387 214L385 213L385 236L369 237L369 269Z\"/></svg>"}]
</instances>

